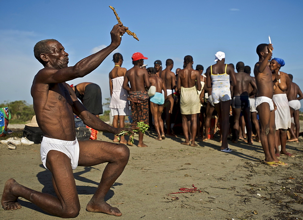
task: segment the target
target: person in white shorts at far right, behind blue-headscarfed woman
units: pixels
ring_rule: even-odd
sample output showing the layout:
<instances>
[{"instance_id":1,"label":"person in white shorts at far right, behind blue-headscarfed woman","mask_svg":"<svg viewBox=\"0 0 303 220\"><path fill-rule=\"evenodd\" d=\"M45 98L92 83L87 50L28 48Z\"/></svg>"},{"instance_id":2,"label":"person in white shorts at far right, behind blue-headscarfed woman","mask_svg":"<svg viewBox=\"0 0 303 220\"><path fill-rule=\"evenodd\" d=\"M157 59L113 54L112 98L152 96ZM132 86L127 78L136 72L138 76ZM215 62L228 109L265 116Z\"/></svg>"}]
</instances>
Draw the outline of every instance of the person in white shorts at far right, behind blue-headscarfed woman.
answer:
<instances>
[{"instance_id":1,"label":"person in white shorts at far right, behind blue-headscarfed woman","mask_svg":"<svg viewBox=\"0 0 303 220\"><path fill-rule=\"evenodd\" d=\"M294 121L294 124L296 126L296 134L293 135L293 137L288 141L298 141L299 132L300 132L300 122L299 122L299 109L301 108L301 103L299 100L303 99L303 94L300 89L300 87L294 83L293 76L291 74L288 74L290 80L291 80L291 89L288 92L288 104L290 108L290 115L292 120ZM298 97L299 95L299 97ZM293 131L293 129L292 129Z\"/></svg>"}]
</instances>

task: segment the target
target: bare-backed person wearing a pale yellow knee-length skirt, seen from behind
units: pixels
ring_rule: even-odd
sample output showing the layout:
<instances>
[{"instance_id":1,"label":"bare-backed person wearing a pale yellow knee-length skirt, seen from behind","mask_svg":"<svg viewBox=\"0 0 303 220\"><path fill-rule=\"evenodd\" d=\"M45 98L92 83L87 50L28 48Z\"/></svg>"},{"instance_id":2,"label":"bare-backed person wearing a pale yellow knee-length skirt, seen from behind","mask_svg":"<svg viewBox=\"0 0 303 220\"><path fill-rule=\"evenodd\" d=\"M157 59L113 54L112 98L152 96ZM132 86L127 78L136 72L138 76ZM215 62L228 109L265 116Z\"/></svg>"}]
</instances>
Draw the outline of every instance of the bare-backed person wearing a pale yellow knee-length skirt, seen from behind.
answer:
<instances>
[{"instance_id":1,"label":"bare-backed person wearing a pale yellow knee-length skirt, seen from behind","mask_svg":"<svg viewBox=\"0 0 303 220\"><path fill-rule=\"evenodd\" d=\"M201 83L199 83L199 71L192 68L193 63L194 61L190 55L184 57L184 69L179 70L177 88L180 93L182 128L185 136L185 142L182 142L181 144L195 147L198 146L195 144L195 138L197 134L197 114L200 113L200 99L198 91L201 91ZM187 115L191 118L190 128L188 128L187 124ZM189 129L191 130L190 144L188 138Z\"/></svg>"}]
</instances>

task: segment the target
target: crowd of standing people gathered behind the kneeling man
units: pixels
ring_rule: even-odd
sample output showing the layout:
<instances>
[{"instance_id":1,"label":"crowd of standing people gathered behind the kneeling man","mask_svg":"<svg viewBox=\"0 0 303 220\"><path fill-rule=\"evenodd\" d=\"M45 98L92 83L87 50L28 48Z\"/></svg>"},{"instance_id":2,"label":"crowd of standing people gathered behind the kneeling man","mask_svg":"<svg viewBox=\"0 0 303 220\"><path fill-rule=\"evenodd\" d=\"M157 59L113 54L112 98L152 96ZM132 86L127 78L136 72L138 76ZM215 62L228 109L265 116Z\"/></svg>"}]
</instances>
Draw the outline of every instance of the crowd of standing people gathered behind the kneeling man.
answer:
<instances>
[{"instance_id":1,"label":"crowd of standing people gathered behind the kneeling man","mask_svg":"<svg viewBox=\"0 0 303 220\"><path fill-rule=\"evenodd\" d=\"M280 71L285 62L272 58L272 50L271 44L257 47L259 62L253 70L255 77L250 75L251 67L241 61L236 67L226 64L225 53L221 51L215 54L216 63L206 73L200 64L193 69L193 58L189 55L184 57L183 69L177 68L176 73L171 71L174 67L171 59L166 60L164 70L161 60L146 68L144 60L148 58L142 53L133 54L134 67L126 70L121 67L122 54L115 53L115 66L109 74L113 126L118 127L119 121L119 127L123 127L129 113L132 127L139 121L149 123L158 141L183 134L185 141L181 144L197 146L196 138L208 141L213 137L210 133L215 133L216 126L211 126L211 119L218 117L221 151L232 151L228 137L234 143L242 139L249 145L255 139L262 144L265 163L272 167L278 166L277 163L286 165L278 159L280 154L294 157L285 147L287 141L298 141L299 100L303 95L292 82L293 76ZM117 107L115 103L122 100ZM114 142L117 141L115 137ZM120 143L132 146L125 137ZM147 147L140 132L138 147Z\"/></svg>"}]
</instances>

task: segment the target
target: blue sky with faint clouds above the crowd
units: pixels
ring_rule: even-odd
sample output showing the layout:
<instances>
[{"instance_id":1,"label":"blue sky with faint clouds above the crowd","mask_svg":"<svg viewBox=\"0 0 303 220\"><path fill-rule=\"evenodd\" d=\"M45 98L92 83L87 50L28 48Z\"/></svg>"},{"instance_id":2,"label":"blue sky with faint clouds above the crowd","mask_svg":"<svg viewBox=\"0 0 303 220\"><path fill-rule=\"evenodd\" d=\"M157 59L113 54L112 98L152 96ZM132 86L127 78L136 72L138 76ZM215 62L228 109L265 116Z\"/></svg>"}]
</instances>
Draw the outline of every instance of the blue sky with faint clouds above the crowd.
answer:
<instances>
[{"instance_id":1,"label":"blue sky with faint clouds above the crowd","mask_svg":"<svg viewBox=\"0 0 303 220\"><path fill-rule=\"evenodd\" d=\"M123 24L135 32L122 37L115 52L122 53L122 67L132 67L132 54L141 52L153 66L155 60L174 60L175 69L191 55L194 67L214 64L221 50L226 63L243 61L253 68L258 61L256 47L268 43L273 57L285 60L281 71L294 75L303 89L303 1L2 1L0 7L0 103L26 100L32 104L30 88L43 66L35 59L33 47L54 38L69 53L69 66L108 46L117 24L112 5ZM112 53L113 54L113 53ZM103 102L109 95L108 73L112 54L92 73L70 84L94 82L102 89Z\"/></svg>"}]
</instances>

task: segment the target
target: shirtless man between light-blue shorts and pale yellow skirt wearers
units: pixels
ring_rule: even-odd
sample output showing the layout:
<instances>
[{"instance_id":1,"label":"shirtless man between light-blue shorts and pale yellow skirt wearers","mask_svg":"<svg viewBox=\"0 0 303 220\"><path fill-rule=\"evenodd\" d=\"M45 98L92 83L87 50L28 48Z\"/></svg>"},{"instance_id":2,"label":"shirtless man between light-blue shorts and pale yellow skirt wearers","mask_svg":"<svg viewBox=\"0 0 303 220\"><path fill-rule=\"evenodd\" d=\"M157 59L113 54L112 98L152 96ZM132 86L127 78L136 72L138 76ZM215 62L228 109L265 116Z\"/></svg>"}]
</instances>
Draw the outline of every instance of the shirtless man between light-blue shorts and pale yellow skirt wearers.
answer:
<instances>
[{"instance_id":1,"label":"shirtless man between light-blue shorts and pale yellow skirt wearers","mask_svg":"<svg viewBox=\"0 0 303 220\"><path fill-rule=\"evenodd\" d=\"M165 100L165 105L166 105L165 118L166 118L166 126L167 126L166 136L175 137L175 135L172 134L171 131L171 114L172 114L172 109L174 107L174 98L172 94L174 93L174 90L177 90L176 76L175 73L171 72L172 68L174 67L174 61L171 59L167 59L165 65L166 68L162 70L160 77L165 84L166 92L167 92L167 99Z\"/></svg>"}]
</instances>

